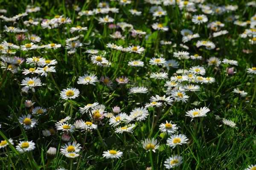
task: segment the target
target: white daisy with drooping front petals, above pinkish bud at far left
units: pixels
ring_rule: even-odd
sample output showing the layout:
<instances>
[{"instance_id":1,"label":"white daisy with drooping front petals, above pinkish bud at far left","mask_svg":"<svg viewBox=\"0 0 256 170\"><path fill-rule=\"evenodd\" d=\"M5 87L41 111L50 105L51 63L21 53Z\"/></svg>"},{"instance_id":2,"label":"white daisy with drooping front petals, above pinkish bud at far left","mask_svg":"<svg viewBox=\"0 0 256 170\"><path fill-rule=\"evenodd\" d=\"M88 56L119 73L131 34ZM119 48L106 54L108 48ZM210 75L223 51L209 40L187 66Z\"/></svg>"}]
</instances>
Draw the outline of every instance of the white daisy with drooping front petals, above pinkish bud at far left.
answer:
<instances>
[{"instance_id":1,"label":"white daisy with drooping front petals, above pinkish bud at far left","mask_svg":"<svg viewBox=\"0 0 256 170\"><path fill-rule=\"evenodd\" d=\"M41 86L41 80L39 78L33 77L32 79L29 77L26 77L21 81L20 85L24 85L24 87L21 89L23 92L28 92L29 89L32 89L32 91L35 93L35 88L37 86Z\"/></svg>"}]
</instances>

